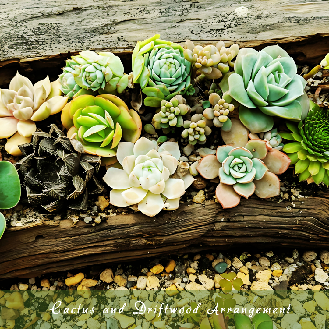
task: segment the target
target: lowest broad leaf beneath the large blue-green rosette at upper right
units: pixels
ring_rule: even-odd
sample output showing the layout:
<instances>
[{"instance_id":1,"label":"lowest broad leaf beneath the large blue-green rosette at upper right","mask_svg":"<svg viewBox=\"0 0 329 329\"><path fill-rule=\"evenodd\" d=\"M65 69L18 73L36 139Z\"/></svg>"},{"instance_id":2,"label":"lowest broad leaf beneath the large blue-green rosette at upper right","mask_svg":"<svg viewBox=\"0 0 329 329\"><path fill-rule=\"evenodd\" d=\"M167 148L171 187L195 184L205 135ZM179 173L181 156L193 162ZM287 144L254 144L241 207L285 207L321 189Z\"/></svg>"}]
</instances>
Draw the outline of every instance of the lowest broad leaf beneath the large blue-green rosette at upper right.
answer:
<instances>
[{"instance_id":1,"label":"lowest broad leaf beneath the large blue-green rosette at upper right","mask_svg":"<svg viewBox=\"0 0 329 329\"><path fill-rule=\"evenodd\" d=\"M250 109L243 105L240 105L239 108L239 118L252 134L269 131L274 125L271 116L264 114L259 109Z\"/></svg>"}]
</instances>

